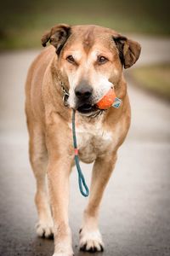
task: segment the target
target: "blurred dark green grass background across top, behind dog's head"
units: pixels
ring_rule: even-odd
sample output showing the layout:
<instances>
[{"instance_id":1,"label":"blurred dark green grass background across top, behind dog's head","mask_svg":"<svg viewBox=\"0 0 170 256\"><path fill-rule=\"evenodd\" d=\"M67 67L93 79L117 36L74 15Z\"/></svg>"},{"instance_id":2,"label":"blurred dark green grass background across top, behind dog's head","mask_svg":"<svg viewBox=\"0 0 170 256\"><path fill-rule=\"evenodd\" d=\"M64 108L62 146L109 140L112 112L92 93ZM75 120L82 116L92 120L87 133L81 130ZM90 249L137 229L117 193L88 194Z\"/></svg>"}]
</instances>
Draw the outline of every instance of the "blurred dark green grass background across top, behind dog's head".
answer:
<instances>
[{"instance_id":1,"label":"blurred dark green grass background across top, behind dog's head","mask_svg":"<svg viewBox=\"0 0 170 256\"><path fill-rule=\"evenodd\" d=\"M169 36L168 11L166 0L5 0L0 9L0 49L40 47L43 32L58 23Z\"/></svg>"}]
</instances>

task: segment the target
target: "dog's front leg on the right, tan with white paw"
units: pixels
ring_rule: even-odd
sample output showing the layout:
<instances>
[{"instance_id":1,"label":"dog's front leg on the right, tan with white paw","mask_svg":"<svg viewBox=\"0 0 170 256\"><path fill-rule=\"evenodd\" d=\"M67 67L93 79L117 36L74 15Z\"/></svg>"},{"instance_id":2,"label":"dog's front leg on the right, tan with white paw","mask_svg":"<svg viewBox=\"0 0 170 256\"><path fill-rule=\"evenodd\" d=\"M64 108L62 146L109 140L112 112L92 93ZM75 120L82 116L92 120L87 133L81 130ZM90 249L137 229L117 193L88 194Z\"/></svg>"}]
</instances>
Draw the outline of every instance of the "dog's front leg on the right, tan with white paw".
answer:
<instances>
[{"instance_id":1,"label":"dog's front leg on the right, tan with white paw","mask_svg":"<svg viewBox=\"0 0 170 256\"><path fill-rule=\"evenodd\" d=\"M80 249L82 251L99 252L104 249L98 228L99 204L115 163L116 153L98 158L94 162L88 206L84 211L82 229L80 230Z\"/></svg>"}]
</instances>

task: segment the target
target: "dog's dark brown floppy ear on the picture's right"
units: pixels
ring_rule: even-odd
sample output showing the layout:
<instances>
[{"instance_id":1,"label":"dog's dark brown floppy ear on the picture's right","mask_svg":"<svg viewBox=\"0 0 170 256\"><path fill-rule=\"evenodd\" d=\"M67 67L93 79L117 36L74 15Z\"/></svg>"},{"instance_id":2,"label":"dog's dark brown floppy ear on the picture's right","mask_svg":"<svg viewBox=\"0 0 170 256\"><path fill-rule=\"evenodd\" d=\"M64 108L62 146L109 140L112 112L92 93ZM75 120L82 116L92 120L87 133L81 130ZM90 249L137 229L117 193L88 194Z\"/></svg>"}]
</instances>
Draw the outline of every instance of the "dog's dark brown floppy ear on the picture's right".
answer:
<instances>
[{"instance_id":1,"label":"dog's dark brown floppy ear on the picture's right","mask_svg":"<svg viewBox=\"0 0 170 256\"><path fill-rule=\"evenodd\" d=\"M113 37L116 47L119 50L119 56L124 68L133 66L133 64L139 59L140 44L121 35Z\"/></svg>"}]
</instances>

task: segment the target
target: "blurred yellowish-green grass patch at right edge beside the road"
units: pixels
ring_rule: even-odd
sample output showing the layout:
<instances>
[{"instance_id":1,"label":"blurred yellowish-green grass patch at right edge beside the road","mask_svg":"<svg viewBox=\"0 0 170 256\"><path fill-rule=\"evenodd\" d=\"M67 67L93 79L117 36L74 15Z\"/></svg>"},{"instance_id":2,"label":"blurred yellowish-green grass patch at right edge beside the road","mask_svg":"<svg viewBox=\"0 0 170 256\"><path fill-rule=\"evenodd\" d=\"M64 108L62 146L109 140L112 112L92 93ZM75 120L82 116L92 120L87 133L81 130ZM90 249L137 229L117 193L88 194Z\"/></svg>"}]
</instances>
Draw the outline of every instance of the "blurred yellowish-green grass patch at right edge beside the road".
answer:
<instances>
[{"instance_id":1,"label":"blurred yellowish-green grass patch at right edge beside the road","mask_svg":"<svg viewBox=\"0 0 170 256\"><path fill-rule=\"evenodd\" d=\"M170 101L170 63L133 68L136 84Z\"/></svg>"}]
</instances>

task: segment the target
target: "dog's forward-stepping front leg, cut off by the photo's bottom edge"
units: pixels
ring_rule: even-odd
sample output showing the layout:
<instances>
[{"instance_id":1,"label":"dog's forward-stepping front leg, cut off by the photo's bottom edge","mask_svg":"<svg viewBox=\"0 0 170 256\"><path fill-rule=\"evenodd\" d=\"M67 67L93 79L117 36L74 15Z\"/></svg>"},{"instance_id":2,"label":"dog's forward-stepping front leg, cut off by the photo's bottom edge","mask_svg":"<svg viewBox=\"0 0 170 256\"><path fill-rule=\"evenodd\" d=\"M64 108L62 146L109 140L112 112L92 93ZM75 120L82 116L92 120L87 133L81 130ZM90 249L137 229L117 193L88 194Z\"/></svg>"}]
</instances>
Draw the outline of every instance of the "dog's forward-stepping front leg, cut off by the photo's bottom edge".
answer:
<instances>
[{"instance_id":1,"label":"dog's forward-stepping front leg, cut off by the photo's bottom edge","mask_svg":"<svg viewBox=\"0 0 170 256\"><path fill-rule=\"evenodd\" d=\"M68 219L68 160L51 160L48 165L48 189L54 218L54 256L72 256L71 229Z\"/></svg>"}]
</instances>

